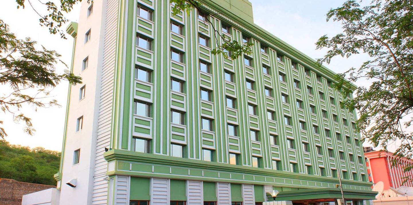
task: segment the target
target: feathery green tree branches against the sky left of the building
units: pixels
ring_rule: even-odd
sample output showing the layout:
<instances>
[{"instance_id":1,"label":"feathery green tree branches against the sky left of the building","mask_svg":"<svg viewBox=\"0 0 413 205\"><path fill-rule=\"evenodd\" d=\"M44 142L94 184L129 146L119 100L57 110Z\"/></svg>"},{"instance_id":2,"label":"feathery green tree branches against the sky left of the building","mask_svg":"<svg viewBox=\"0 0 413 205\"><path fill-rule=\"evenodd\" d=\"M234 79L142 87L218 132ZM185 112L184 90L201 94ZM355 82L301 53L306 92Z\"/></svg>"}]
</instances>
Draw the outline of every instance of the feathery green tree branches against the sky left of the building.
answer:
<instances>
[{"instance_id":1,"label":"feathery green tree branches against the sky left of the building","mask_svg":"<svg viewBox=\"0 0 413 205\"><path fill-rule=\"evenodd\" d=\"M73 6L82 0L59 0L59 5L52 1L40 2L44 8L36 8L31 0L16 0L17 8L25 8L30 5L40 17L41 26L49 29L50 33L59 33L66 38L64 30L60 29L68 22L65 13L71 12ZM90 2L90 0L88 0ZM46 14L40 14L39 10L47 10ZM0 19L0 110L12 114L14 122L24 122L24 131L30 135L35 129L29 117L21 112L24 105L34 107L50 107L58 105L57 101L50 99L50 91L60 81L67 80L71 84L81 83L81 78L65 70L58 74L56 64L64 62L59 60L60 55L54 50L36 49L36 41L30 38L17 39L14 33L9 31L9 26ZM66 64L64 64L66 66ZM67 66L66 66L67 67ZM0 120L0 125L3 121ZM0 138L7 136L5 128L0 126Z\"/></svg>"}]
</instances>

